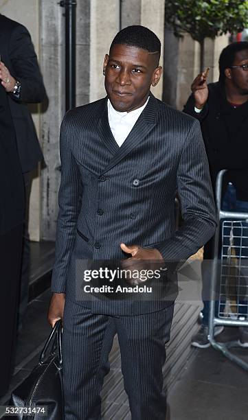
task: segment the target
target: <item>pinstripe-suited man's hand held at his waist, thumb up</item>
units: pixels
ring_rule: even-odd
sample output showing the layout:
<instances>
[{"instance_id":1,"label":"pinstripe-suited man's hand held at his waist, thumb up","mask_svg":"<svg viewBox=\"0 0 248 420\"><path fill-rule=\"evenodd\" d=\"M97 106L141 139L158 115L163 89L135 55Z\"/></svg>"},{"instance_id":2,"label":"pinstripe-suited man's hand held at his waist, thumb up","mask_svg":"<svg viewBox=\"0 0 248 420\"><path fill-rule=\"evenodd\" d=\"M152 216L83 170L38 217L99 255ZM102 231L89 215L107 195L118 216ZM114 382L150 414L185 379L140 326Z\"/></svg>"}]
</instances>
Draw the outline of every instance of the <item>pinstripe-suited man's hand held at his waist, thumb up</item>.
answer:
<instances>
[{"instance_id":1,"label":"pinstripe-suited man's hand held at his waist, thumb up","mask_svg":"<svg viewBox=\"0 0 248 420\"><path fill-rule=\"evenodd\" d=\"M122 260L122 269L131 271L141 270L156 270L158 265L164 264L164 259L156 248L142 248L139 245L120 244L124 253L131 254L132 256ZM140 279L130 278L127 279L132 284L142 283Z\"/></svg>"}]
</instances>

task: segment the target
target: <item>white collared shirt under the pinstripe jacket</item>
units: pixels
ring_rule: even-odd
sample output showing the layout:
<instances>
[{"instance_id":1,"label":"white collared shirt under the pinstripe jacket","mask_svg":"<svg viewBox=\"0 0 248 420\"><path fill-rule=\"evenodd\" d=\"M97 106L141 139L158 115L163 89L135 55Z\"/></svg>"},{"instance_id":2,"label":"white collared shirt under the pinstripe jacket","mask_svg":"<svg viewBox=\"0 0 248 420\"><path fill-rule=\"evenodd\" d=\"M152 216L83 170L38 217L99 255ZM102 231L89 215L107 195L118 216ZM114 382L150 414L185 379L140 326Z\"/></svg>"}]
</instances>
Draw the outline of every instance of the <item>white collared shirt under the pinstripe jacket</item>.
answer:
<instances>
[{"instance_id":1,"label":"white collared shirt under the pinstripe jacket","mask_svg":"<svg viewBox=\"0 0 248 420\"><path fill-rule=\"evenodd\" d=\"M124 143L126 137L128 137L128 134L131 132L133 126L135 125L135 122L139 118L139 115L142 113L142 110L144 110L144 108L146 107L148 100L143 106L133 111L130 111L129 113L121 113L120 111L115 110L110 100L108 100L109 126L111 128L113 137L115 138L115 141L119 147L122 145L122 143Z\"/></svg>"}]
</instances>

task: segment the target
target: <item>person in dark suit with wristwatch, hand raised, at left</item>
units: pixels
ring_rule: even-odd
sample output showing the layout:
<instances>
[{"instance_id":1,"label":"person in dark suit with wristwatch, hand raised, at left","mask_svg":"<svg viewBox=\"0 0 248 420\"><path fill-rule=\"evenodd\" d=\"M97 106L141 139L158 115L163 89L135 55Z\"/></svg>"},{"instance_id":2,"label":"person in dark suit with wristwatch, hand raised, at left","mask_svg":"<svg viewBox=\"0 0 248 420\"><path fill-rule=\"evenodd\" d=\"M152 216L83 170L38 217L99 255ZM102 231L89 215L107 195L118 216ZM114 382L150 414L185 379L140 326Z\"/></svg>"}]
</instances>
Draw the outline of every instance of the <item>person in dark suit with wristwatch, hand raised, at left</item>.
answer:
<instances>
[{"instance_id":1,"label":"person in dark suit with wristwatch, hand raised, at left","mask_svg":"<svg viewBox=\"0 0 248 420\"><path fill-rule=\"evenodd\" d=\"M27 306L30 266L30 244L27 234L28 208L31 191L31 171L43 159L34 123L27 103L38 103L45 97L45 87L32 40L27 29L0 14L0 80L8 94L8 102L21 170L25 183L25 229L21 275L20 323ZM1 105L1 104L0 104Z\"/></svg>"}]
</instances>

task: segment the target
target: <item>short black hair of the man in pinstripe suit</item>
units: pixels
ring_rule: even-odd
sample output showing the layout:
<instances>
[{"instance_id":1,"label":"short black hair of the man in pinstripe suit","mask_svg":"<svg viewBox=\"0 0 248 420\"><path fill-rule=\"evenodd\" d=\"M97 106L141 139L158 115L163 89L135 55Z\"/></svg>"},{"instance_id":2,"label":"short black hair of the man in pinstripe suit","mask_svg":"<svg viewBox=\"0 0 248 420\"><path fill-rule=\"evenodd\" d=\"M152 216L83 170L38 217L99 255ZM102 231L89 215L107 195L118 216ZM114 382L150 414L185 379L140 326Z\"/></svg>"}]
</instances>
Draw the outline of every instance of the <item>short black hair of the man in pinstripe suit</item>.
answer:
<instances>
[{"instance_id":1,"label":"short black hair of the man in pinstripe suit","mask_svg":"<svg viewBox=\"0 0 248 420\"><path fill-rule=\"evenodd\" d=\"M157 35L142 25L132 25L124 27L123 30L118 32L113 38L111 48L115 44L132 45L133 47L147 49L150 53L161 53L161 42Z\"/></svg>"}]
</instances>

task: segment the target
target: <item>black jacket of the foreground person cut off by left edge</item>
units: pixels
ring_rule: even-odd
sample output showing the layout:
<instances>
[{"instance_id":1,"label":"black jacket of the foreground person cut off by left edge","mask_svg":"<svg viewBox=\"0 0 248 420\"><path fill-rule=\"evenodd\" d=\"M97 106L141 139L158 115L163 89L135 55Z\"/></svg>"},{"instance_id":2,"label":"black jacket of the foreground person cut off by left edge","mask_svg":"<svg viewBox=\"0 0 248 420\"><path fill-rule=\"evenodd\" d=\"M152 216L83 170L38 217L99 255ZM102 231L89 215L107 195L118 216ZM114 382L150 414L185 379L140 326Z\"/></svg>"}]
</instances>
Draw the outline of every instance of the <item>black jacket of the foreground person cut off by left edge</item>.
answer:
<instances>
[{"instance_id":1,"label":"black jacket of the foreground person cut off by left edge","mask_svg":"<svg viewBox=\"0 0 248 420\"><path fill-rule=\"evenodd\" d=\"M5 89L0 85L0 235L24 219L23 175Z\"/></svg>"}]
</instances>

